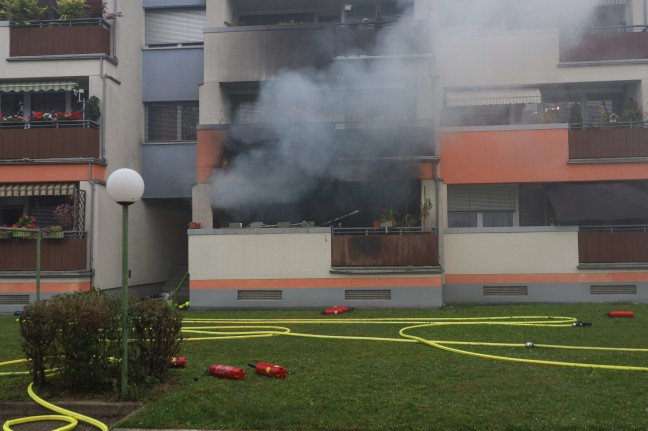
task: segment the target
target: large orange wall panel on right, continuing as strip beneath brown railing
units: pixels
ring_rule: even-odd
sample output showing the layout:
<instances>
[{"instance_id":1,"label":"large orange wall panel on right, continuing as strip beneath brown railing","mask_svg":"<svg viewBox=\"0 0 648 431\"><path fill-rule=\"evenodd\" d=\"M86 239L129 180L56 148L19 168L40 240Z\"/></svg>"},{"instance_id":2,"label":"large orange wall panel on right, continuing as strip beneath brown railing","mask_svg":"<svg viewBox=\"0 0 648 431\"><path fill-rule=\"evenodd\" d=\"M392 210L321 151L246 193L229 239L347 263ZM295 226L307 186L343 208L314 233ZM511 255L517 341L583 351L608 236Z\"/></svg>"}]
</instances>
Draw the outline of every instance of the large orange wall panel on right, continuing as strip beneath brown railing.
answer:
<instances>
[{"instance_id":1,"label":"large orange wall panel on right, continuing as strip beneath brown railing","mask_svg":"<svg viewBox=\"0 0 648 431\"><path fill-rule=\"evenodd\" d=\"M494 184L646 178L645 163L574 164L568 130L442 132L446 184Z\"/></svg>"}]
</instances>

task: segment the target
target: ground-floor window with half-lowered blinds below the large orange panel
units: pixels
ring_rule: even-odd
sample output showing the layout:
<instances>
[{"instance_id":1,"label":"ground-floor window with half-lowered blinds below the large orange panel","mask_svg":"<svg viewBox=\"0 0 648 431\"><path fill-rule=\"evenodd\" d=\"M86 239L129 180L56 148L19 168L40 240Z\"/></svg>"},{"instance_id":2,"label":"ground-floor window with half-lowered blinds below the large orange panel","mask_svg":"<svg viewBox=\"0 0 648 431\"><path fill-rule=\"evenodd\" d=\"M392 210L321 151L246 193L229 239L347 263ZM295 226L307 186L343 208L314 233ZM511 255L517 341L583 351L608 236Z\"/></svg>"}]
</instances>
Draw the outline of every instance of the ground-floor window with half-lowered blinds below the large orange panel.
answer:
<instances>
[{"instance_id":1,"label":"ground-floor window with half-lowered blinds below the large orange panel","mask_svg":"<svg viewBox=\"0 0 648 431\"><path fill-rule=\"evenodd\" d=\"M514 225L517 189L511 185L448 186L448 227Z\"/></svg>"}]
</instances>

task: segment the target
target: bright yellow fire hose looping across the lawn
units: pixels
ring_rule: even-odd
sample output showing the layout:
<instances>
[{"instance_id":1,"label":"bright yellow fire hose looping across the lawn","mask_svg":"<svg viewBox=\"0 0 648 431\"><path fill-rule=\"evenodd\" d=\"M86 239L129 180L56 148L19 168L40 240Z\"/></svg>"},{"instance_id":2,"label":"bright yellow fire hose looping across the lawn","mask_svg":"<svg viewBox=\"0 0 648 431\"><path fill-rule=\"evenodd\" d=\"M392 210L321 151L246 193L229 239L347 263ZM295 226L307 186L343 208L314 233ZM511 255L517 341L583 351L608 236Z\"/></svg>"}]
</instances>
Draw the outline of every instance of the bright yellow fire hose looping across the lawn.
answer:
<instances>
[{"instance_id":1,"label":"bright yellow fire hose looping across the lawn","mask_svg":"<svg viewBox=\"0 0 648 431\"><path fill-rule=\"evenodd\" d=\"M291 324L318 324L318 325L405 325L399 330L399 338L389 337L367 337L367 336L353 336L353 335L324 335L312 333L297 333L293 332L290 328L277 325L291 325ZM521 362L528 364L541 364L541 365L556 365L568 367L585 367L585 368L600 368L607 370L625 370L625 371L648 371L648 367L641 366L628 366L628 365L605 365L605 364L591 364L580 362L560 362L538 359L525 359L513 358L507 356L489 355L484 353L477 353L468 350L462 350L457 347L451 346L492 346L492 347L539 347L550 349L574 349L574 350L607 350L619 352L648 352L648 349L643 348L622 348L622 347L589 347L589 346L565 346L565 345L551 345L551 344L533 344L527 343L496 343L496 342L475 342L475 341L444 341L444 340L430 340L408 332L429 327L442 327L449 325L510 325L510 326L549 326L549 327L572 327L577 325L577 319L573 317L561 316L502 316L502 317L473 317L473 318L326 318L320 317L316 319L196 319L187 318L183 320L182 332L184 334L192 334L185 341L206 341L206 340L230 340L241 338L259 338L259 337L275 337L275 336L291 336L291 337L307 337L316 339L336 339L336 340L362 340L362 341L388 341L400 343L422 343L431 347L435 347L444 351L458 353L463 355L474 356L485 359L495 359L502 361ZM5 365L15 365L27 362L26 359L18 359L8 362L0 362L0 367ZM51 370L50 370L51 372ZM0 376L28 374L27 371L5 372L0 373ZM67 425L57 428L53 431L68 431L74 428L78 421L86 422L101 431L108 431L108 427L93 418L81 415L57 407L53 404L44 401L38 397L32 388L33 384L28 387L29 396L42 405L43 407L52 410L58 415L41 415L31 416L19 419L6 421L3 430L13 431L11 426L20 425L29 422L37 421L63 421L68 422Z\"/></svg>"}]
</instances>

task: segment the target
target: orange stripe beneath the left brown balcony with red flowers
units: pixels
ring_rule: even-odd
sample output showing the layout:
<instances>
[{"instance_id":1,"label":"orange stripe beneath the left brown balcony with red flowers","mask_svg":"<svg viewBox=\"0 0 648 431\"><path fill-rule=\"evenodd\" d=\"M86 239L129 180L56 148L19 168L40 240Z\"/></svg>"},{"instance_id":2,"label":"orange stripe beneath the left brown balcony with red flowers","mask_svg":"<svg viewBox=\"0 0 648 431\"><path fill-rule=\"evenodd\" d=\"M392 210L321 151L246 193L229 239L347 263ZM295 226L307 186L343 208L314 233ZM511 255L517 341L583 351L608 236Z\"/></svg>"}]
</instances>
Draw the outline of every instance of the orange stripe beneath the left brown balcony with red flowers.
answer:
<instances>
[{"instance_id":1,"label":"orange stripe beneath the left brown balcony with red flowers","mask_svg":"<svg viewBox=\"0 0 648 431\"><path fill-rule=\"evenodd\" d=\"M106 167L93 164L92 179L105 180ZM87 164L4 165L0 169L0 183L46 183L87 180Z\"/></svg>"}]
</instances>

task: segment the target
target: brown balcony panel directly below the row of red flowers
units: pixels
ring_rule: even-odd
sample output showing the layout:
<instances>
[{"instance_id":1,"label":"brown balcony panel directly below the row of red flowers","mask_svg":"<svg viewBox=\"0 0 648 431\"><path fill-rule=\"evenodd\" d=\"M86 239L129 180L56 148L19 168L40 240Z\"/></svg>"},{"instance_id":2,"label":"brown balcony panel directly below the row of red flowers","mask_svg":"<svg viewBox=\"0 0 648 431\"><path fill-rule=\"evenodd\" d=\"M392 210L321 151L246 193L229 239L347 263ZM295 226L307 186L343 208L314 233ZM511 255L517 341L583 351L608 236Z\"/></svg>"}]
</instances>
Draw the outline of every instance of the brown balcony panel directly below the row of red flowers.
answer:
<instances>
[{"instance_id":1,"label":"brown balcony panel directly below the row of red flowers","mask_svg":"<svg viewBox=\"0 0 648 431\"><path fill-rule=\"evenodd\" d=\"M89 120L0 122L0 159L99 158L99 126Z\"/></svg>"}]
</instances>

